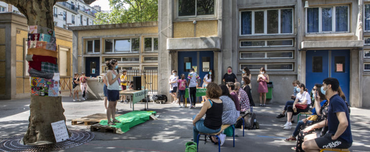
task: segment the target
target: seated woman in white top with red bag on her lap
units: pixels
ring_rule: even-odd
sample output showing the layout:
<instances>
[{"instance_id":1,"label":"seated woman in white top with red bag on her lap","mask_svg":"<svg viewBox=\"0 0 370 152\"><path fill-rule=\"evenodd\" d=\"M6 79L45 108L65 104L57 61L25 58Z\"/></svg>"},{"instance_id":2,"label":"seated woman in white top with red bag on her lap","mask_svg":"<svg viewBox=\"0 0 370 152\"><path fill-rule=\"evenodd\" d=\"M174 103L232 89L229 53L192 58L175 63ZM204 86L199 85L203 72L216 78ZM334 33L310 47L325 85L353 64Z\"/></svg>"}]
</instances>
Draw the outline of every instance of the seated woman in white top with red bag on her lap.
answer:
<instances>
[{"instance_id":1,"label":"seated woman in white top with red bag on her lap","mask_svg":"<svg viewBox=\"0 0 370 152\"><path fill-rule=\"evenodd\" d=\"M300 84L297 86L297 98L295 98L295 101L293 105L287 106L287 121L284 125L284 129L291 129L291 119L292 115L298 115L298 113L301 112L307 112L310 109L311 104L311 97L310 94L307 92L306 86L304 84ZM295 105L307 105L305 109L297 108Z\"/></svg>"}]
</instances>

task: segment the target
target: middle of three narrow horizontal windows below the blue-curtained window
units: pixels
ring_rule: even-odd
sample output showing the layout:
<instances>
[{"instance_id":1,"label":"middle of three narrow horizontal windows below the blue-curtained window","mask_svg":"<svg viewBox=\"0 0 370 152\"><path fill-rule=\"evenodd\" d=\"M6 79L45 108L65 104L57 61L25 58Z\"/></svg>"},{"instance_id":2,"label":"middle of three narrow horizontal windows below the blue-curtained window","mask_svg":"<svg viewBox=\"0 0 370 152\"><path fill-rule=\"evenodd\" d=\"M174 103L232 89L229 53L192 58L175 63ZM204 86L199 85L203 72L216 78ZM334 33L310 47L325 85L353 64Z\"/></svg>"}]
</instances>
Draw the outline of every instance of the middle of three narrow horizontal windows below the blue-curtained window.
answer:
<instances>
[{"instance_id":1,"label":"middle of three narrow horizontal windows below the blue-curtained window","mask_svg":"<svg viewBox=\"0 0 370 152\"><path fill-rule=\"evenodd\" d=\"M240 52L239 59L292 59L293 51Z\"/></svg>"}]
</instances>

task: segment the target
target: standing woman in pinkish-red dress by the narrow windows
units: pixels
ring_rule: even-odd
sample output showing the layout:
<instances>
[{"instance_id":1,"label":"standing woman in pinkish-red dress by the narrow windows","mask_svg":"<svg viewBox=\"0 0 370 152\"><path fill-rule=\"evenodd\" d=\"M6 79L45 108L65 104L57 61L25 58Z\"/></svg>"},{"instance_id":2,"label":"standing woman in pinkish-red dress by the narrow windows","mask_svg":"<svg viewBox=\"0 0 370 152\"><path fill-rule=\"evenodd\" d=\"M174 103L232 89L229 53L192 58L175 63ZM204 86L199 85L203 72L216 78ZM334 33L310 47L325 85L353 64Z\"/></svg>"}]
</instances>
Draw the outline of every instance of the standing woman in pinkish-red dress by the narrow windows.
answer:
<instances>
[{"instance_id":1,"label":"standing woman in pinkish-red dress by the narrow windows","mask_svg":"<svg viewBox=\"0 0 370 152\"><path fill-rule=\"evenodd\" d=\"M267 83L270 82L269 75L266 74L265 67L261 67L260 74L258 74L258 93L260 93L260 106L266 106L266 93L269 92L267 89ZM262 105L262 97L264 97L264 104Z\"/></svg>"}]
</instances>

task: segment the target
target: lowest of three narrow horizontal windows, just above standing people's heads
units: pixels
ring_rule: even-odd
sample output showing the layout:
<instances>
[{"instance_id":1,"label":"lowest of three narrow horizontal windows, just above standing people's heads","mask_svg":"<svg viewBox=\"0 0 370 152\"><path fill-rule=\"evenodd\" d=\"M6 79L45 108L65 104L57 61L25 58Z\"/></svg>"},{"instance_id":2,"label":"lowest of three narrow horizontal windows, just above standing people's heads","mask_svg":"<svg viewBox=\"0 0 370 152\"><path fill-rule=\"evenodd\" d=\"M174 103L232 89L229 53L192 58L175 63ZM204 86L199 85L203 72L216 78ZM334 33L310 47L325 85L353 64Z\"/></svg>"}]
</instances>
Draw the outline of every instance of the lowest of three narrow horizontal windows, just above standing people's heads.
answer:
<instances>
[{"instance_id":1,"label":"lowest of three narrow horizontal windows, just above standing people's heads","mask_svg":"<svg viewBox=\"0 0 370 152\"><path fill-rule=\"evenodd\" d=\"M265 67L267 71L292 71L293 63L240 63L239 71L244 67L248 67L251 71L259 71L261 67Z\"/></svg>"}]
</instances>

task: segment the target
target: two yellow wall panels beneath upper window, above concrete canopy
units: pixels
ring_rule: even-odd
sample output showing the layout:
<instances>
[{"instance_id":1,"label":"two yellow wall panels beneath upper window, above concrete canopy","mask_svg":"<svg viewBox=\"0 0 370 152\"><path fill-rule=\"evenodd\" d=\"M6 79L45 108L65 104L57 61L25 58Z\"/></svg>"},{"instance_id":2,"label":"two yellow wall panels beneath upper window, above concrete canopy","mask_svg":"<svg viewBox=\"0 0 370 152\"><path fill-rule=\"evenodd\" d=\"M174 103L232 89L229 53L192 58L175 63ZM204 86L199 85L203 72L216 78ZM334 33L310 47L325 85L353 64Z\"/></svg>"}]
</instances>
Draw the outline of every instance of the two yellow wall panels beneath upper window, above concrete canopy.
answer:
<instances>
[{"instance_id":1,"label":"two yellow wall panels beneath upper window, above concrete canopy","mask_svg":"<svg viewBox=\"0 0 370 152\"><path fill-rule=\"evenodd\" d=\"M195 36L192 21L173 23L174 38L208 36L217 36L217 20L197 21L197 24L195 24Z\"/></svg>"}]
</instances>

